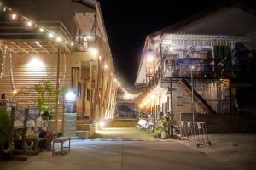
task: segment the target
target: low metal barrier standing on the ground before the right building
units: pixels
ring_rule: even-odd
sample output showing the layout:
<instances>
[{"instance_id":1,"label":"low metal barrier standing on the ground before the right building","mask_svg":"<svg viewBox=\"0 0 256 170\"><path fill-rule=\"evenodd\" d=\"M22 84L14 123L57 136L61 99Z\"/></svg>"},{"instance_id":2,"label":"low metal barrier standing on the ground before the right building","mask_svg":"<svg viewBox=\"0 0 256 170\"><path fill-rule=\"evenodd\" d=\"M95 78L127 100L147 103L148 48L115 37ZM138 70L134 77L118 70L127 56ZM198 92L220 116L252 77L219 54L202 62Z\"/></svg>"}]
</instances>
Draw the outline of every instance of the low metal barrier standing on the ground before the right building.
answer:
<instances>
[{"instance_id":1,"label":"low metal barrier standing on the ground before the right building","mask_svg":"<svg viewBox=\"0 0 256 170\"><path fill-rule=\"evenodd\" d=\"M197 147L200 144L211 145L207 133L207 125L205 122L180 122L180 139L189 139L196 143Z\"/></svg>"}]
</instances>

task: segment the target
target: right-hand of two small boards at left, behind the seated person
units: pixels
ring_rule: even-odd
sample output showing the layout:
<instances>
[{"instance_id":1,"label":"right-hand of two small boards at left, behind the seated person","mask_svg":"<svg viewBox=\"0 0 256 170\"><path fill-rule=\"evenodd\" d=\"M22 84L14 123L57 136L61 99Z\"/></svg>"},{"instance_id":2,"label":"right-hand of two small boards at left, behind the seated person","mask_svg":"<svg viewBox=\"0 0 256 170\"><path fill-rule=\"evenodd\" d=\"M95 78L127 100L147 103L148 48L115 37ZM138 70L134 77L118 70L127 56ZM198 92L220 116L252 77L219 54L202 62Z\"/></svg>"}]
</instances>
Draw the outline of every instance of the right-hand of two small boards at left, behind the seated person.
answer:
<instances>
[{"instance_id":1,"label":"right-hand of two small boards at left, behind the seated person","mask_svg":"<svg viewBox=\"0 0 256 170\"><path fill-rule=\"evenodd\" d=\"M40 116L40 107L38 106L29 106L28 107L28 113L26 118L26 126L27 127L35 127L36 121L38 117Z\"/></svg>"}]
</instances>

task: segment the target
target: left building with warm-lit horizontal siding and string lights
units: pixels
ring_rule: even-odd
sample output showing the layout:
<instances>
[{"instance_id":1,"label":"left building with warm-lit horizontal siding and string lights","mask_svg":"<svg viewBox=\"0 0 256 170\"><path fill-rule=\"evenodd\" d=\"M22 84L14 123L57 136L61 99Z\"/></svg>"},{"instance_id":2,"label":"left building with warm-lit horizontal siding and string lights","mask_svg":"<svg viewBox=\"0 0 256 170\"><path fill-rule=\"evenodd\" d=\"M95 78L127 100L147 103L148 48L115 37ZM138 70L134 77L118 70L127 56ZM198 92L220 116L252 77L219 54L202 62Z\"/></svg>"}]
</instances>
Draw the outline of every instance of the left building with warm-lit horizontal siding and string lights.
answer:
<instances>
[{"instance_id":1,"label":"left building with warm-lit horizontal siding and string lights","mask_svg":"<svg viewBox=\"0 0 256 170\"><path fill-rule=\"evenodd\" d=\"M113 118L118 85L100 3L29 0L4 5L0 94L20 107L37 105L38 94L30 89L49 82L57 91L66 87L76 94L80 123ZM24 91L28 93L20 93ZM61 132L63 96L47 97L53 108L52 127Z\"/></svg>"}]
</instances>

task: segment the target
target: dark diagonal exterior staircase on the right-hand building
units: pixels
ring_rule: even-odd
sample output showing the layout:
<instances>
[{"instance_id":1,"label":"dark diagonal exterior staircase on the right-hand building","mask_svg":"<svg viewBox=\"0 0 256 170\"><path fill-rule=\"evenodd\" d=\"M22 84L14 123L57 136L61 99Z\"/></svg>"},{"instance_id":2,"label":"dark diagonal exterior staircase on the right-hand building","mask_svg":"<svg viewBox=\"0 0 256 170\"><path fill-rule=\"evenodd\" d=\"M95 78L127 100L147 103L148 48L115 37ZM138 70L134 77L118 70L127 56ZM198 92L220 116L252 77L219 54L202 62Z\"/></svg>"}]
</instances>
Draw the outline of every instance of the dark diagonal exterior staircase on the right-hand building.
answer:
<instances>
[{"instance_id":1,"label":"dark diagonal exterior staircase on the right-hand building","mask_svg":"<svg viewBox=\"0 0 256 170\"><path fill-rule=\"evenodd\" d=\"M178 82L178 85L181 88L183 88L184 91L186 91L188 94L192 95L192 87L186 79L183 78L180 82ZM195 99L195 102L197 102L205 112L211 113L211 114L217 114L216 111L212 109L212 106L209 105L207 101L200 94L198 94L195 89L194 89L194 99Z\"/></svg>"}]
</instances>

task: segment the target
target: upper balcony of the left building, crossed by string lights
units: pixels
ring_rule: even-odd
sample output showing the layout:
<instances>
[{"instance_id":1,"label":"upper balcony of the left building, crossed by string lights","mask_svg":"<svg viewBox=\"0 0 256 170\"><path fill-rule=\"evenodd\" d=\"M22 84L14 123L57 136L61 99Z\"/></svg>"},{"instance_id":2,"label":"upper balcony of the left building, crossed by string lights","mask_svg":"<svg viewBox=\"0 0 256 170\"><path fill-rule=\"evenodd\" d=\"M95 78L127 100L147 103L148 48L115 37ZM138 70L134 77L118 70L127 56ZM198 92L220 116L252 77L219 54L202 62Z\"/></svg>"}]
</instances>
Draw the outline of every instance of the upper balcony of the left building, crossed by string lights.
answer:
<instances>
[{"instance_id":1,"label":"upper balcony of the left building, crossed by string lights","mask_svg":"<svg viewBox=\"0 0 256 170\"><path fill-rule=\"evenodd\" d=\"M2 45L10 48L15 54L57 53L60 46L67 52L72 50L65 42L73 42L73 38L61 22L47 21L37 24L26 26L22 21L0 22ZM50 32L54 32L59 37L50 35Z\"/></svg>"}]
</instances>

